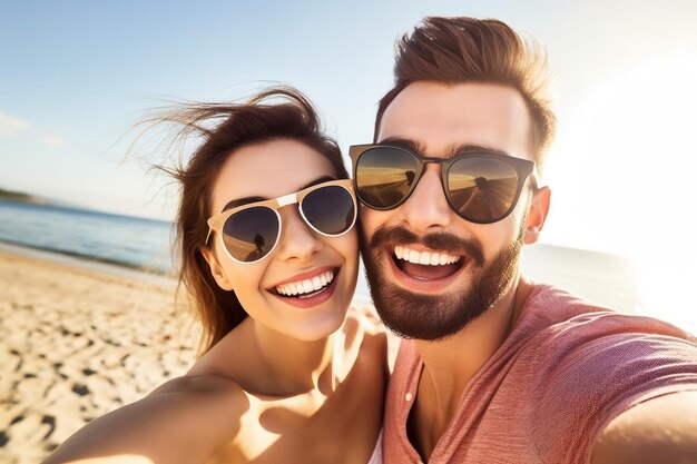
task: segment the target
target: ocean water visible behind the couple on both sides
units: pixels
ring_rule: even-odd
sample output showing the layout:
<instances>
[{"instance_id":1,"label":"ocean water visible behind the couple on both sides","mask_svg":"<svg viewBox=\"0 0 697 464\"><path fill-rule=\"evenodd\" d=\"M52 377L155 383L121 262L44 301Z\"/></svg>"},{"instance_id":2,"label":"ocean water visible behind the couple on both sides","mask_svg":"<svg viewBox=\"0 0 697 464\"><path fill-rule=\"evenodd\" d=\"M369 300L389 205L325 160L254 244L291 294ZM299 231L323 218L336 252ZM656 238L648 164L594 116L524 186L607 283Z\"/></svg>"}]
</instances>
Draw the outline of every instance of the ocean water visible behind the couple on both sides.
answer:
<instances>
[{"instance_id":1,"label":"ocean water visible behind the couple on both sides","mask_svg":"<svg viewBox=\"0 0 697 464\"><path fill-rule=\"evenodd\" d=\"M171 274L170 231L166 221L0 200L0 241L157 274ZM641 307L628 258L534 245L523 248L522 272L608 307ZM363 273L356 300L370 302Z\"/></svg>"}]
</instances>

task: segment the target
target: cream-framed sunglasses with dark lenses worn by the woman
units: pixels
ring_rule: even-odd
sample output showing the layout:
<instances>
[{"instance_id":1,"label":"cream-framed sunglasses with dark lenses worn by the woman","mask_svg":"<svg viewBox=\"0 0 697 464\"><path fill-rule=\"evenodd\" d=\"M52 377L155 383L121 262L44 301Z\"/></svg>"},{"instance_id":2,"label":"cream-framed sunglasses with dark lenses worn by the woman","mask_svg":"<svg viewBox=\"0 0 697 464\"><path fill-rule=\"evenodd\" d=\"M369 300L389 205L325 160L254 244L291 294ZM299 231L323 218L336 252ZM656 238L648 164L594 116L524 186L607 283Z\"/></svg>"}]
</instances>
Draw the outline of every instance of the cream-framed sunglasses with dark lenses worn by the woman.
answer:
<instances>
[{"instance_id":1,"label":"cream-framed sunglasses with dark lenses worn by the woman","mask_svg":"<svg viewBox=\"0 0 697 464\"><path fill-rule=\"evenodd\" d=\"M208 219L206 244L215 233L230 258L238 263L256 263L278 244L282 229L278 209L295 204L307 226L324 236L341 236L351 230L356 220L352 180L331 180L213 216Z\"/></svg>"}]
</instances>

